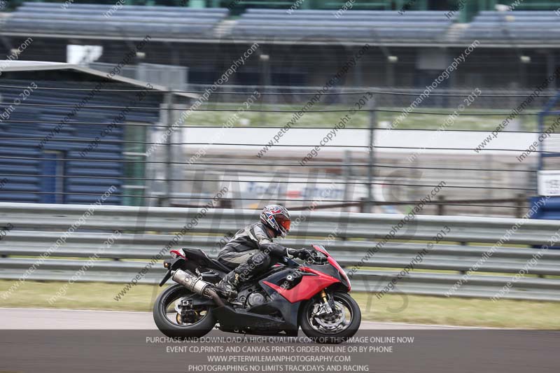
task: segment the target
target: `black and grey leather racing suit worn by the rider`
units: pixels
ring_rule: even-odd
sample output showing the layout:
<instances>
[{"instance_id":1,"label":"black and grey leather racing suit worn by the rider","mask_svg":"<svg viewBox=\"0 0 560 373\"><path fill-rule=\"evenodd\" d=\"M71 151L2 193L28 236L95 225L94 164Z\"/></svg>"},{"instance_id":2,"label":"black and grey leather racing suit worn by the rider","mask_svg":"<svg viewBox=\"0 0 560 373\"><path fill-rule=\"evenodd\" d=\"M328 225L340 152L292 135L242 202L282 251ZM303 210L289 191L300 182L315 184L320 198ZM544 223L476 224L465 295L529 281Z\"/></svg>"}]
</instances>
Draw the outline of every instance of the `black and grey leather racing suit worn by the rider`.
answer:
<instances>
[{"instance_id":1,"label":"black and grey leather racing suit worn by the rider","mask_svg":"<svg viewBox=\"0 0 560 373\"><path fill-rule=\"evenodd\" d=\"M286 255L287 248L274 244L272 238L262 223L247 225L223 247L218 260L232 268L239 281L249 281Z\"/></svg>"}]
</instances>

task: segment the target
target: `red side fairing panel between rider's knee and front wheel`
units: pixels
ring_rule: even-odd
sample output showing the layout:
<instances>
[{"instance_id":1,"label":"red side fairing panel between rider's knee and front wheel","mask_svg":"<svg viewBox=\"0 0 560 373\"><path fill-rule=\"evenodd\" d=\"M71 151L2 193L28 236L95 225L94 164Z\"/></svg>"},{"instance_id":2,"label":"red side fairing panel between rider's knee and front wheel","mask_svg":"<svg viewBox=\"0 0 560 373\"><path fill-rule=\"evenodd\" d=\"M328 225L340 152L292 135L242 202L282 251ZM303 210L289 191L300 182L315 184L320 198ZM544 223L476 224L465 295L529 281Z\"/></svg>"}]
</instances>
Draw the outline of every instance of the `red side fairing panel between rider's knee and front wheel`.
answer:
<instances>
[{"instance_id":1,"label":"red side fairing panel between rider's knee and front wheel","mask_svg":"<svg viewBox=\"0 0 560 373\"><path fill-rule=\"evenodd\" d=\"M282 286L269 283L268 281L262 281L262 283L276 290L276 293L286 298L288 302L295 303L301 302L302 300L309 300L333 283L340 282L339 279L335 279L328 274L323 274L323 272L309 267L300 267L300 271L314 274L315 276L302 276L301 282L291 289L283 288Z\"/></svg>"}]
</instances>

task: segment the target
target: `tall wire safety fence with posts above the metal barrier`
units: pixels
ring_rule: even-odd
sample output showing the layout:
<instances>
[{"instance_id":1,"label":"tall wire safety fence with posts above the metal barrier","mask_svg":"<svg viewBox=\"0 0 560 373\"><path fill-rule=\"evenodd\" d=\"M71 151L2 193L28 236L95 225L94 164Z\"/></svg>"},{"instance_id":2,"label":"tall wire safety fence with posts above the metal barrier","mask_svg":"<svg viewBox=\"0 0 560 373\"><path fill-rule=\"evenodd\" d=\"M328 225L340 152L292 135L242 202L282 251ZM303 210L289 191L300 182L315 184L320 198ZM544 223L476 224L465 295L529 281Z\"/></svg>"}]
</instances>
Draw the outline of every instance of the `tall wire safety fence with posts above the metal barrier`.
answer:
<instances>
[{"instance_id":1,"label":"tall wire safety fence with posts above the metal barrier","mask_svg":"<svg viewBox=\"0 0 560 373\"><path fill-rule=\"evenodd\" d=\"M29 86L28 99L17 101ZM403 212L402 205L445 181L430 213L519 216L538 193L537 158L558 153L527 150L543 130L539 113L556 94L552 87L538 97L478 88L426 96L418 89L221 85L209 96L201 85L103 87L18 79L0 85L10 111L1 123L1 201L88 203L115 185L116 204L193 206L194 193L212 194L223 182L237 185L235 208L267 197L308 206L320 194L308 188L332 184L321 204ZM192 100L174 101L176 94ZM493 99L501 104L489 104ZM524 110L512 114L521 101ZM79 118L59 124L78 108ZM505 127L510 117L523 118L524 129ZM494 120L506 124L496 129ZM269 187L274 197L253 192Z\"/></svg>"}]
</instances>

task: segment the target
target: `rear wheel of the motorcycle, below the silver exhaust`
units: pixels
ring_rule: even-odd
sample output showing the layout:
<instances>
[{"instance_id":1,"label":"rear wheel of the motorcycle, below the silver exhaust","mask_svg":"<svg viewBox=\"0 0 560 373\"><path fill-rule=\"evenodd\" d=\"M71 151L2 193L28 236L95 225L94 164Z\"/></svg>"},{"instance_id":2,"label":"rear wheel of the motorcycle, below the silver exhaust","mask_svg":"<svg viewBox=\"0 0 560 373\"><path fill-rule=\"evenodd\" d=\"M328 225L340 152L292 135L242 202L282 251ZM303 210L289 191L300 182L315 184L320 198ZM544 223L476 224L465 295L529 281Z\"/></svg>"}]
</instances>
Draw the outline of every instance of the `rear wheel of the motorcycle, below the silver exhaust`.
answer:
<instances>
[{"instance_id":1,"label":"rear wheel of the motorcycle, below the silver exhaust","mask_svg":"<svg viewBox=\"0 0 560 373\"><path fill-rule=\"evenodd\" d=\"M190 292L176 284L163 290L153 305L153 320L167 337L196 338L207 335L216 325L213 306L193 306Z\"/></svg>"}]
</instances>

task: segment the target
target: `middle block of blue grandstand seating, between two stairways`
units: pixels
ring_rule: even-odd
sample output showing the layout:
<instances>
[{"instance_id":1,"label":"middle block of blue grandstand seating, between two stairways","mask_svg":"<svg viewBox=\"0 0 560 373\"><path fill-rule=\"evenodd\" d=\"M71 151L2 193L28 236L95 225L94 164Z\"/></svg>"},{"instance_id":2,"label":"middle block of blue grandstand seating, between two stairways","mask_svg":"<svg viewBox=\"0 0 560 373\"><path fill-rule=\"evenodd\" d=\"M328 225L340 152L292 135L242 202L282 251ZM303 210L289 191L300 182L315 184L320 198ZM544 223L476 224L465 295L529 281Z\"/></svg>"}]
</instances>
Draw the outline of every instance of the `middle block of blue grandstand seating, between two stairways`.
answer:
<instances>
[{"instance_id":1,"label":"middle block of blue grandstand seating, between two stairways","mask_svg":"<svg viewBox=\"0 0 560 373\"><path fill-rule=\"evenodd\" d=\"M233 36L274 37L276 39L348 39L353 40L435 40L451 25L445 12L348 10L335 17L336 10L295 10L251 8L242 14L233 28Z\"/></svg>"}]
</instances>

